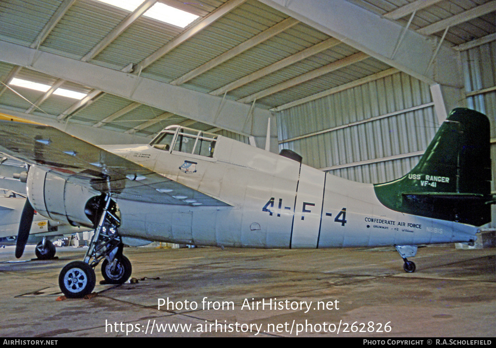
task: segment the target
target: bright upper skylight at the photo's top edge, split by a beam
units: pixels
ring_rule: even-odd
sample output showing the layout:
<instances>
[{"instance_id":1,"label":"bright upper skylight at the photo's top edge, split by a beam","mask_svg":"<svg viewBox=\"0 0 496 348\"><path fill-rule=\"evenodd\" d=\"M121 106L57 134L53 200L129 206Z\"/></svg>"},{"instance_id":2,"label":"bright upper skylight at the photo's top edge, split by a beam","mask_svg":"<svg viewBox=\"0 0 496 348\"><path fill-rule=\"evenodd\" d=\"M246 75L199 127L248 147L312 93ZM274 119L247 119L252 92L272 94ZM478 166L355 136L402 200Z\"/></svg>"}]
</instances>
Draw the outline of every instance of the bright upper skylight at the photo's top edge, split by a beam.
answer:
<instances>
[{"instance_id":1,"label":"bright upper skylight at the photo's top edge, split by a beam","mask_svg":"<svg viewBox=\"0 0 496 348\"><path fill-rule=\"evenodd\" d=\"M125 9L129 12L134 11L143 3L143 0L95 0L107 3L109 5ZM143 14L145 17L153 18L164 23L172 24L181 28L186 27L193 20L198 18L196 14L192 14L182 9L166 5L162 2L157 2L148 11Z\"/></svg>"}]
</instances>

